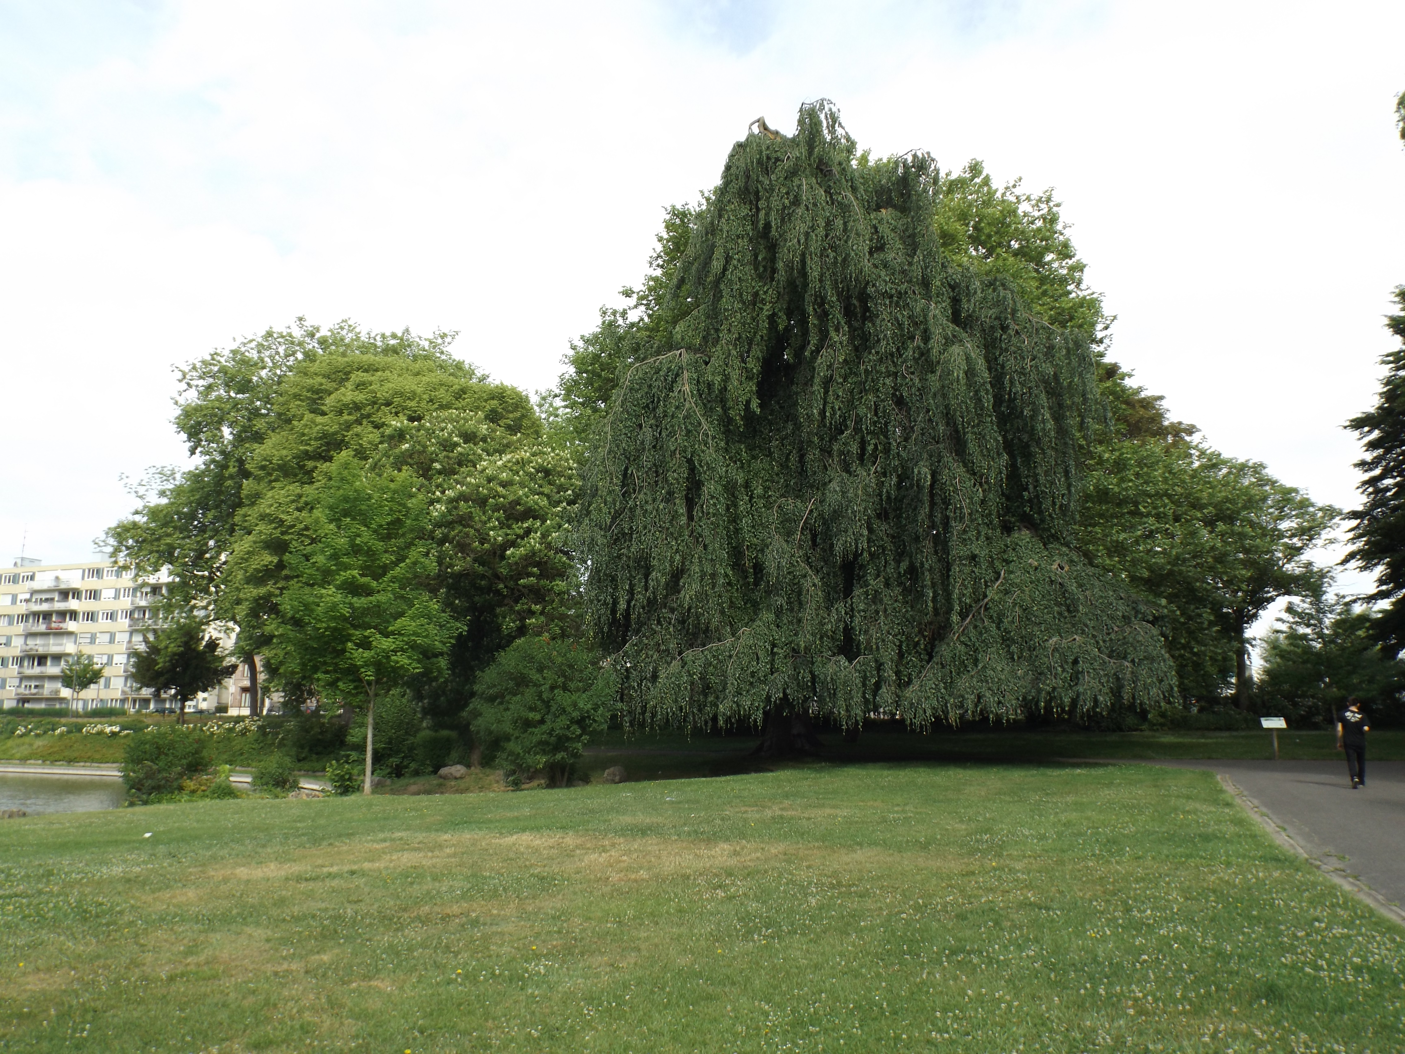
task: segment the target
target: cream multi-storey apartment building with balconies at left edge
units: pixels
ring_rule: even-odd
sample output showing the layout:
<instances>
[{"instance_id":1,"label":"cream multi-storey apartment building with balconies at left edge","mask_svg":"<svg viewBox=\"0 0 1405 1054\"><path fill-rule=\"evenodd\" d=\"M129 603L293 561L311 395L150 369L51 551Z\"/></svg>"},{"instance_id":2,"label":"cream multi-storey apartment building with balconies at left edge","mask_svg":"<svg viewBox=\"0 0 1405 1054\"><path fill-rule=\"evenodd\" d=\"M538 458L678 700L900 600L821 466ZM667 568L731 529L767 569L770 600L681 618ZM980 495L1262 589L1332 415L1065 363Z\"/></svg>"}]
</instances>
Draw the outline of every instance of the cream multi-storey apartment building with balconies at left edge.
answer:
<instances>
[{"instance_id":1,"label":"cream multi-storey apartment building with balconies at left edge","mask_svg":"<svg viewBox=\"0 0 1405 1054\"><path fill-rule=\"evenodd\" d=\"M170 705L133 684L133 652L155 625L163 582L139 582L111 561L42 564L17 559L0 572L0 708ZM63 663L87 652L103 679L73 698L59 677ZM187 710L229 704L228 683L187 703Z\"/></svg>"}]
</instances>

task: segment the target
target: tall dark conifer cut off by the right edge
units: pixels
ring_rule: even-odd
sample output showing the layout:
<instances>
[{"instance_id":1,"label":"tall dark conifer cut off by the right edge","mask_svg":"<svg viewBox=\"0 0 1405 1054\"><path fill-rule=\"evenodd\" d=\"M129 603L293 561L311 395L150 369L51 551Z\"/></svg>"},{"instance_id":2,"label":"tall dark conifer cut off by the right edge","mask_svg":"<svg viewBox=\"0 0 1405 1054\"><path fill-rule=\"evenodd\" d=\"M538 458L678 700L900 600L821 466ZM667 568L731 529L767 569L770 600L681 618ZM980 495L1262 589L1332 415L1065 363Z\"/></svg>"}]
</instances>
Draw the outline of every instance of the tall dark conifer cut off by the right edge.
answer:
<instances>
[{"instance_id":1,"label":"tall dark conifer cut off by the right edge","mask_svg":"<svg viewBox=\"0 0 1405 1054\"><path fill-rule=\"evenodd\" d=\"M1375 406L1347 422L1366 448L1356 462L1366 476L1359 485L1364 500L1350 513L1347 559L1375 572L1371 600L1385 609L1373 631L1391 656L1405 649L1405 285L1395 288L1395 304L1399 313L1385 322L1401 344L1381 358L1385 377Z\"/></svg>"}]
</instances>

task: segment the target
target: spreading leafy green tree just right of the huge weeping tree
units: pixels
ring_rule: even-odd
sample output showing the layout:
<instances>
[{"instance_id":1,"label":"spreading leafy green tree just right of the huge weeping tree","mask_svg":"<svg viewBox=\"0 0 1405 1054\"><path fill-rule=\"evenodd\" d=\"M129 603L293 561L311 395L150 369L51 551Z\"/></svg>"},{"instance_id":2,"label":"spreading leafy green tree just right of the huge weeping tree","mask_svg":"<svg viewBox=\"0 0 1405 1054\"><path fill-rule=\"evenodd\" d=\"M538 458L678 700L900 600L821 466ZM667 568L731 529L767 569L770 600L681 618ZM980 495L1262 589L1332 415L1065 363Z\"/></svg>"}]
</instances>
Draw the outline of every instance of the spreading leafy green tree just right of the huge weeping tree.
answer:
<instances>
[{"instance_id":1,"label":"spreading leafy green tree just right of the huge weeping tree","mask_svg":"<svg viewBox=\"0 0 1405 1054\"><path fill-rule=\"evenodd\" d=\"M1103 443L1087 465L1080 551L1161 601L1182 693L1217 697L1245 630L1280 597L1321 590L1325 572L1307 554L1336 510L1200 444Z\"/></svg>"}]
</instances>

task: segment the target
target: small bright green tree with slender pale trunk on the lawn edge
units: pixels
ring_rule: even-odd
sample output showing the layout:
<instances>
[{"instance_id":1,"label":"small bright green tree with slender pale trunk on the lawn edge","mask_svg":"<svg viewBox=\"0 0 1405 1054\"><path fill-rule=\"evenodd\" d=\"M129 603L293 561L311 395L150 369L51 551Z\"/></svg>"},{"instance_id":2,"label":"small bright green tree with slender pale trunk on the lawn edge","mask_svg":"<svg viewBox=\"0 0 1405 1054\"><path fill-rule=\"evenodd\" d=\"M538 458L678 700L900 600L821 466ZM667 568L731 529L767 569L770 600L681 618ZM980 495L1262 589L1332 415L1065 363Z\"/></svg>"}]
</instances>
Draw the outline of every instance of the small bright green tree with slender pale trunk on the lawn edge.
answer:
<instances>
[{"instance_id":1,"label":"small bright green tree with slender pale trunk on the lawn edge","mask_svg":"<svg viewBox=\"0 0 1405 1054\"><path fill-rule=\"evenodd\" d=\"M267 655L287 676L364 710L370 794L377 697L440 673L459 627L434 596L429 516L407 474L367 472L344 451L302 507L263 625Z\"/></svg>"}]
</instances>

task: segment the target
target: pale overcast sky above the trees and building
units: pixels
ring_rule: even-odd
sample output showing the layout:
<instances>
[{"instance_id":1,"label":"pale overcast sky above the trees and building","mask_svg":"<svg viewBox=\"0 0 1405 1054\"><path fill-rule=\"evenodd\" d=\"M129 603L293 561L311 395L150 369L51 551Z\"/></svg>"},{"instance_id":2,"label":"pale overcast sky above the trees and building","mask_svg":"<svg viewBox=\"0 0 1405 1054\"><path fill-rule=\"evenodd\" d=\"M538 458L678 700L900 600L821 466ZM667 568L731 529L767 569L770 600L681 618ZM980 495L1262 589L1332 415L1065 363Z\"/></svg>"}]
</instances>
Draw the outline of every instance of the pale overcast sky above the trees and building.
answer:
<instances>
[{"instance_id":1,"label":"pale overcast sky above the trees and building","mask_svg":"<svg viewBox=\"0 0 1405 1054\"><path fill-rule=\"evenodd\" d=\"M663 207L816 97L875 155L1054 187L1114 357L1350 506L1402 39L1398 0L0 0L0 555L86 557L184 458L173 365L299 315L551 385Z\"/></svg>"}]
</instances>

